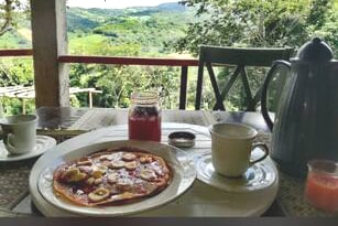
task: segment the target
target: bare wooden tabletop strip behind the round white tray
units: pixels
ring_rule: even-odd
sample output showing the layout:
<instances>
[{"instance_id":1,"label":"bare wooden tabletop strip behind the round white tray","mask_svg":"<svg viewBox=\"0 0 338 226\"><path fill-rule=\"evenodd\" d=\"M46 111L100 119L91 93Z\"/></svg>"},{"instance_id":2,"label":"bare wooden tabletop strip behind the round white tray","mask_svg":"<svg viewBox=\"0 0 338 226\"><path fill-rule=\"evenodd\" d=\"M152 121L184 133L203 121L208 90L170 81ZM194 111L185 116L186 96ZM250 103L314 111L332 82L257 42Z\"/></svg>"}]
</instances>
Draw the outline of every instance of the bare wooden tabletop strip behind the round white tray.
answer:
<instances>
[{"instance_id":1,"label":"bare wooden tabletop strip behind the round white tray","mask_svg":"<svg viewBox=\"0 0 338 226\"><path fill-rule=\"evenodd\" d=\"M255 129L270 132L260 112L229 112L203 110L164 110L162 121L185 122L207 126L217 121L248 123ZM107 126L127 123L127 109L110 108L69 108L42 107L36 110L39 128L48 129L97 129ZM91 120L94 119L94 121Z\"/></svg>"}]
</instances>

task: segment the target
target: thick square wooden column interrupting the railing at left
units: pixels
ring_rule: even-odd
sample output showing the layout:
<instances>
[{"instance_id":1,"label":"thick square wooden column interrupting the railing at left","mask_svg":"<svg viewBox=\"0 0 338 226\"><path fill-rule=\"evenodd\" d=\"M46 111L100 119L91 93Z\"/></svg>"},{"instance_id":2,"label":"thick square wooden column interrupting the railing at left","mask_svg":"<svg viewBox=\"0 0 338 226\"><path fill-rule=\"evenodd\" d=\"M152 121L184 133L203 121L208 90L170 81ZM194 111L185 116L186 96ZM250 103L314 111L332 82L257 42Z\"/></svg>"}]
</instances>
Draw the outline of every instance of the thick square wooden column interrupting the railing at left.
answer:
<instances>
[{"instance_id":1,"label":"thick square wooden column interrupting the railing at left","mask_svg":"<svg viewBox=\"0 0 338 226\"><path fill-rule=\"evenodd\" d=\"M69 106L66 0L31 0L36 108Z\"/></svg>"}]
</instances>

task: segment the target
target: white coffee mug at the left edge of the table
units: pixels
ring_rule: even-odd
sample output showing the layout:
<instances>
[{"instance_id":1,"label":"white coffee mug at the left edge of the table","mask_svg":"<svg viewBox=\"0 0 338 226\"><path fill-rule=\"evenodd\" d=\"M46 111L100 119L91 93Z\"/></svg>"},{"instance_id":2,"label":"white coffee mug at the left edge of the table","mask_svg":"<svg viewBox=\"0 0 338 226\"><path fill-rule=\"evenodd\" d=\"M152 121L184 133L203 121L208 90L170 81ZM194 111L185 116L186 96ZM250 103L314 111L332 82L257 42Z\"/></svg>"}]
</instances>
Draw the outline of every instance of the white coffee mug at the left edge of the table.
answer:
<instances>
[{"instance_id":1,"label":"white coffee mug at the left edge of the table","mask_svg":"<svg viewBox=\"0 0 338 226\"><path fill-rule=\"evenodd\" d=\"M3 143L11 154L32 151L36 144L37 117L35 115L17 115L0 119Z\"/></svg>"}]
</instances>

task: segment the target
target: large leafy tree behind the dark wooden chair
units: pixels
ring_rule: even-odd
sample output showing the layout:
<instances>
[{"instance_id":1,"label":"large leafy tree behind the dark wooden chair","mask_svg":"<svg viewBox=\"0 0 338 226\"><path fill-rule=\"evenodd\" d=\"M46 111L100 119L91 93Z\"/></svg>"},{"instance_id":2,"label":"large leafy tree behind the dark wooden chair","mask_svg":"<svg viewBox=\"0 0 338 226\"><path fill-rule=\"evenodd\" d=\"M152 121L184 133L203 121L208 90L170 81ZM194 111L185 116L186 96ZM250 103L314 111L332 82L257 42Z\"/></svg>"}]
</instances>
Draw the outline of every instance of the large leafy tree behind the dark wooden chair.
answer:
<instances>
[{"instance_id":1,"label":"large leafy tree behind the dark wooden chair","mask_svg":"<svg viewBox=\"0 0 338 226\"><path fill-rule=\"evenodd\" d=\"M200 44L220 46L282 47L295 50L312 36L324 37L338 49L338 17L336 0L184 0L181 3L196 8L199 20L190 23L187 34L174 43L174 50L195 55ZM335 10L334 10L335 9ZM218 80L229 79L229 73L220 72ZM255 69L249 77L253 89L261 86L264 77ZM235 85L231 105L242 106L243 93ZM209 96L205 92L205 96ZM208 106L214 100L208 101ZM204 105L206 105L204 103Z\"/></svg>"}]
</instances>

